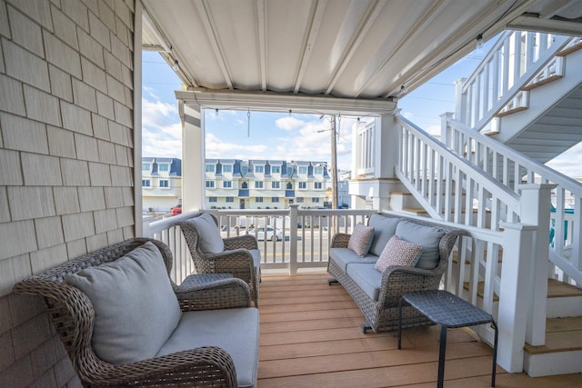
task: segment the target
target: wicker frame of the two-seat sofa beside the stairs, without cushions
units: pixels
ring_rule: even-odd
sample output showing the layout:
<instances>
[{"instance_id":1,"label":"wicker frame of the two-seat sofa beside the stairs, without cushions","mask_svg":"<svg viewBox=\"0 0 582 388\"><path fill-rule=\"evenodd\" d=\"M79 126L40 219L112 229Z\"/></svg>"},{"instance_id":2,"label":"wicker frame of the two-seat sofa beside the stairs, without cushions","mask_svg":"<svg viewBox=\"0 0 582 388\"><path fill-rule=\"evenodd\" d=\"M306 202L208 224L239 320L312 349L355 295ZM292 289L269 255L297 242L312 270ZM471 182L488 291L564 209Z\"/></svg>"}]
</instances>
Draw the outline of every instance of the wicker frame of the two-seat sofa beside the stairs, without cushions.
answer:
<instances>
[{"instance_id":1,"label":"wicker frame of the two-seat sofa beside the stairs, without cushions","mask_svg":"<svg viewBox=\"0 0 582 388\"><path fill-rule=\"evenodd\" d=\"M393 214L383 214L386 217L402 218L416 224L437 226L444 230L446 234L441 238L439 250L439 262L432 270L425 270L407 266L389 266L382 274L382 284L378 300L371 299L357 284L349 277L331 258L327 265L327 272L336 278L339 284L346 288L354 302L366 316L367 323L375 332L386 332L398 329L398 301L403 293L413 293L416 291L437 290L442 275L447 270L448 256L451 254L457 237L466 234L462 230L442 227L428 221L418 221L412 218L396 216ZM331 248L346 248L349 234L334 235ZM418 313L411 306L402 308L402 327L414 327L432 322L422 313Z\"/></svg>"}]
</instances>

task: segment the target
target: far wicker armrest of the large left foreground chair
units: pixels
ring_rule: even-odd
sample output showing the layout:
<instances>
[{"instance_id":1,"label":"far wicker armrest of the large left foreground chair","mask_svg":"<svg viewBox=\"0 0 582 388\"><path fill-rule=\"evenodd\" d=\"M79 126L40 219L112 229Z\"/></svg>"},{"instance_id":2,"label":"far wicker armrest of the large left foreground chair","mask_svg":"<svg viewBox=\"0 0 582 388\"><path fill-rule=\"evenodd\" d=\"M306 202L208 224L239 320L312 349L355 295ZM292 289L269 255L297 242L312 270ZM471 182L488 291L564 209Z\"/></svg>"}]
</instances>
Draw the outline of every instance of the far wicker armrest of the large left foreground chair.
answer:
<instances>
[{"instance_id":1,"label":"far wicker armrest of the large left foreground chair","mask_svg":"<svg viewBox=\"0 0 582 388\"><path fill-rule=\"evenodd\" d=\"M174 292L180 309L184 312L251 306L248 284L236 278L216 280L207 284L180 284L176 286Z\"/></svg>"}]
</instances>

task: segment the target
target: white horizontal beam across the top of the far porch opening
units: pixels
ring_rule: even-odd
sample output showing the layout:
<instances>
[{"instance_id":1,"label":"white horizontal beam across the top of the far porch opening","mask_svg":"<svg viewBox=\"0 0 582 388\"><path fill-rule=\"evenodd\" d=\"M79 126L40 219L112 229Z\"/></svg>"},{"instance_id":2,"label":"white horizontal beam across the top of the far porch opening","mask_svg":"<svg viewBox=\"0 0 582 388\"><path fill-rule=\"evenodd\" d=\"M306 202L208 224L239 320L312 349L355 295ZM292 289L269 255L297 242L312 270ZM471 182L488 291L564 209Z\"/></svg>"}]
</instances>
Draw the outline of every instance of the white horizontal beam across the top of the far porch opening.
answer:
<instances>
[{"instance_id":1,"label":"white horizontal beam across the top of the far porch opening","mask_svg":"<svg viewBox=\"0 0 582 388\"><path fill-rule=\"evenodd\" d=\"M386 99L338 98L328 95L253 93L196 88L176 91L176 99L205 109L374 116L394 114L396 103Z\"/></svg>"}]
</instances>

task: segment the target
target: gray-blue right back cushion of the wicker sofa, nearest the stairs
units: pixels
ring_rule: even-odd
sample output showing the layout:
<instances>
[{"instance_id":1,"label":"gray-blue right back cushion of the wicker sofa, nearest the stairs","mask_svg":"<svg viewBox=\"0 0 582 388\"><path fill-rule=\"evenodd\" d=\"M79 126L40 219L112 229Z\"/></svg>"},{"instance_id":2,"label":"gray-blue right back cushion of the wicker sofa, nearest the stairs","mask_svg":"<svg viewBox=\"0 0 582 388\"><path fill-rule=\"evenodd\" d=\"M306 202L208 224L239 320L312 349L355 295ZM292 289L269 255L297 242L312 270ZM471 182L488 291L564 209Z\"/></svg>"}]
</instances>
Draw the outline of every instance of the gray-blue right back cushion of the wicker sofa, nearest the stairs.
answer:
<instances>
[{"instance_id":1,"label":"gray-blue right back cushion of the wicker sofa, nearest the stairs","mask_svg":"<svg viewBox=\"0 0 582 388\"><path fill-rule=\"evenodd\" d=\"M401 221L396 226L396 236L409 243L421 244L422 251L416 263L417 268L432 270L438 264L440 254L438 244L445 231L432 226L425 226L410 221Z\"/></svg>"}]
</instances>

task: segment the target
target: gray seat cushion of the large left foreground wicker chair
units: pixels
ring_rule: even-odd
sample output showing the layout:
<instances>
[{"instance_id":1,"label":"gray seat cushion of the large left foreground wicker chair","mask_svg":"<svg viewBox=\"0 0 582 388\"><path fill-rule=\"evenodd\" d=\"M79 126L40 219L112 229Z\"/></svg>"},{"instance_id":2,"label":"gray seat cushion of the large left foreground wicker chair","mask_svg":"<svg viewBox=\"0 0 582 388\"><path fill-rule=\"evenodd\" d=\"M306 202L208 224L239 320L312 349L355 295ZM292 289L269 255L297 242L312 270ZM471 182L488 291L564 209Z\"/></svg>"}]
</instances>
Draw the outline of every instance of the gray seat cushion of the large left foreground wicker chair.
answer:
<instances>
[{"instance_id":1,"label":"gray seat cushion of the large left foreground wicker chair","mask_svg":"<svg viewBox=\"0 0 582 388\"><path fill-rule=\"evenodd\" d=\"M218 346L233 358L239 387L255 387L259 322L256 308L187 312L156 356Z\"/></svg>"}]
</instances>

